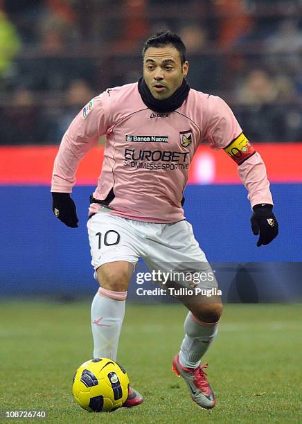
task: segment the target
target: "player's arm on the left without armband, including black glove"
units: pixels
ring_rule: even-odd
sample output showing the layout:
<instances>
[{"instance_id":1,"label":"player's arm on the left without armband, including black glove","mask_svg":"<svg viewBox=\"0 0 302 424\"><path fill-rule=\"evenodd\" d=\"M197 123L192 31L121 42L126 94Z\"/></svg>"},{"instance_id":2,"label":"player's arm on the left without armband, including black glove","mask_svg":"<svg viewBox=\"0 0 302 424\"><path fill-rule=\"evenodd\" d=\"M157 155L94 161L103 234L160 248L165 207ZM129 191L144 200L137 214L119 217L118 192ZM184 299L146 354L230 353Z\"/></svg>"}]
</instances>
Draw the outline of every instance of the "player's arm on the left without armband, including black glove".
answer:
<instances>
[{"instance_id":1,"label":"player's arm on the left without armband, including black glove","mask_svg":"<svg viewBox=\"0 0 302 424\"><path fill-rule=\"evenodd\" d=\"M53 213L68 227L78 227L75 203L70 197L78 164L100 135L105 134L107 127L106 107L101 95L75 116L62 138L53 166L51 193Z\"/></svg>"}]
</instances>

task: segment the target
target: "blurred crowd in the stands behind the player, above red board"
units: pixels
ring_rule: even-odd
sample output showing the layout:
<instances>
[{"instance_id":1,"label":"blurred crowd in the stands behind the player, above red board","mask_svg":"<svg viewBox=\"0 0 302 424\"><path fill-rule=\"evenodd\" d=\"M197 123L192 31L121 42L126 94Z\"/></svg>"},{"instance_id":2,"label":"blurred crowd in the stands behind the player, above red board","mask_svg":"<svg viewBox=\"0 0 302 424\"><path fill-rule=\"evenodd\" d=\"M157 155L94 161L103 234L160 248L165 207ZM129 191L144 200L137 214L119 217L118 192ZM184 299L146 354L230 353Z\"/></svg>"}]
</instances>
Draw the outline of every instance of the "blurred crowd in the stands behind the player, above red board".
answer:
<instances>
[{"instance_id":1,"label":"blurred crowd in the stands behind the player, above red board","mask_svg":"<svg viewBox=\"0 0 302 424\"><path fill-rule=\"evenodd\" d=\"M0 0L0 143L60 143L87 101L138 80L161 28L251 141L302 141L302 0Z\"/></svg>"}]
</instances>

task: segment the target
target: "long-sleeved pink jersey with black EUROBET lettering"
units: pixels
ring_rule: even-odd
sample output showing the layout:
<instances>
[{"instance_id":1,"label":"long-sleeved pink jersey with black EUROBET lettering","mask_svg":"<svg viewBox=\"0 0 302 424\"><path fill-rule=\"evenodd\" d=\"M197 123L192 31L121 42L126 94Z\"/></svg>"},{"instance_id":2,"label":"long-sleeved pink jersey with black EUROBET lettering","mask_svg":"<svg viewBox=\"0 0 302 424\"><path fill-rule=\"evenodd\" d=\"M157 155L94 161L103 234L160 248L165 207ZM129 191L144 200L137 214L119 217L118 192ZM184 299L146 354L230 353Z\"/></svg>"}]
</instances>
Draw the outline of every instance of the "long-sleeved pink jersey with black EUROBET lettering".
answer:
<instances>
[{"instance_id":1,"label":"long-sleeved pink jersey with black EUROBET lettering","mask_svg":"<svg viewBox=\"0 0 302 424\"><path fill-rule=\"evenodd\" d=\"M184 219L181 206L188 168L200 141L225 148L242 133L219 97L190 89L175 112L156 113L143 103L137 82L107 89L75 117L55 159L51 191L71 193L85 153L106 134L103 169L94 199L114 215L148 222ZM251 206L272 204L265 165L258 153L238 166ZM202 199L197 200L202 203ZM100 211L92 203L89 213Z\"/></svg>"}]
</instances>

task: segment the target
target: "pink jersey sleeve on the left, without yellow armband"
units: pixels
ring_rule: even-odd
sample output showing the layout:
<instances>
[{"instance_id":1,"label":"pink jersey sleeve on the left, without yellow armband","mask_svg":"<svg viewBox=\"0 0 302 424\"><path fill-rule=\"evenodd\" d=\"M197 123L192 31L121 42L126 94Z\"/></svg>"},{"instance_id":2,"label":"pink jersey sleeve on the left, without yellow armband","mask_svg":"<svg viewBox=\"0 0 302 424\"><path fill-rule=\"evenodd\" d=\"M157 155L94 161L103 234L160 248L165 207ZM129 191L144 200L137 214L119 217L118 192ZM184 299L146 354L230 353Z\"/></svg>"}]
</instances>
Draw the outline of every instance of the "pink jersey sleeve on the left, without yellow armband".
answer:
<instances>
[{"instance_id":1,"label":"pink jersey sleeve on the left, without yellow armband","mask_svg":"<svg viewBox=\"0 0 302 424\"><path fill-rule=\"evenodd\" d=\"M106 100L106 93L93 98L69 125L55 157L51 191L71 193L81 159L112 125Z\"/></svg>"}]
</instances>

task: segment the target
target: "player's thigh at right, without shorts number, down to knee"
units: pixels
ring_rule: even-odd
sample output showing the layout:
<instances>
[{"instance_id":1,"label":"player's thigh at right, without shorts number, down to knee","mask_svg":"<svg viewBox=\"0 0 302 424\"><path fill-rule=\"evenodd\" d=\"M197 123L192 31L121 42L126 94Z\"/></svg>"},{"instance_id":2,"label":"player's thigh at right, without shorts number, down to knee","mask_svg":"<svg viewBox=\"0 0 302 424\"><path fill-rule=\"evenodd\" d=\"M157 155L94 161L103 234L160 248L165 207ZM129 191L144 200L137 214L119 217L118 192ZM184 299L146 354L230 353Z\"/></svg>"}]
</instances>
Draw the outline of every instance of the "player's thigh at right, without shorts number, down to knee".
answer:
<instances>
[{"instance_id":1,"label":"player's thigh at right, without shorts number, down to knee","mask_svg":"<svg viewBox=\"0 0 302 424\"><path fill-rule=\"evenodd\" d=\"M222 303L215 272L199 247L189 222L166 226L161 243L151 242L149 256L144 259L150 270L161 276L154 282L166 285L169 294L196 317L209 322L215 321L215 317L219 319Z\"/></svg>"}]
</instances>

